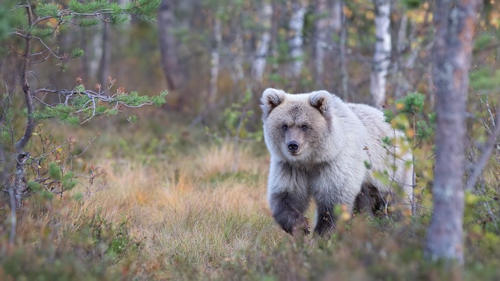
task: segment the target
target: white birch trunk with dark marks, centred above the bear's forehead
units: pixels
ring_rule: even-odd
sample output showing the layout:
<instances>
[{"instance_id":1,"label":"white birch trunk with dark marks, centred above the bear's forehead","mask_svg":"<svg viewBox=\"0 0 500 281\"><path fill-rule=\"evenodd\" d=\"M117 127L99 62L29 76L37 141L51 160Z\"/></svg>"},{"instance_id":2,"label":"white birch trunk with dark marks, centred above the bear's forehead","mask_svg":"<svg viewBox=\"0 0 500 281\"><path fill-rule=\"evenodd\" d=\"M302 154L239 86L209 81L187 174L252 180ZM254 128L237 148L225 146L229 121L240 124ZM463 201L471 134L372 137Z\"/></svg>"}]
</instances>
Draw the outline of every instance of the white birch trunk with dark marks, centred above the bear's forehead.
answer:
<instances>
[{"instance_id":1,"label":"white birch trunk with dark marks, centred above the bear's forehead","mask_svg":"<svg viewBox=\"0 0 500 281\"><path fill-rule=\"evenodd\" d=\"M304 27L304 16L306 8L303 0L295 0L292 3L292 14L290 16L290 39L288 40L288 48L290 49L290 58L292 58L292 65L290 74L292 77L299 77L302 73L303 66L303 36L302 29Z\"/></svg>"}]
</instances>

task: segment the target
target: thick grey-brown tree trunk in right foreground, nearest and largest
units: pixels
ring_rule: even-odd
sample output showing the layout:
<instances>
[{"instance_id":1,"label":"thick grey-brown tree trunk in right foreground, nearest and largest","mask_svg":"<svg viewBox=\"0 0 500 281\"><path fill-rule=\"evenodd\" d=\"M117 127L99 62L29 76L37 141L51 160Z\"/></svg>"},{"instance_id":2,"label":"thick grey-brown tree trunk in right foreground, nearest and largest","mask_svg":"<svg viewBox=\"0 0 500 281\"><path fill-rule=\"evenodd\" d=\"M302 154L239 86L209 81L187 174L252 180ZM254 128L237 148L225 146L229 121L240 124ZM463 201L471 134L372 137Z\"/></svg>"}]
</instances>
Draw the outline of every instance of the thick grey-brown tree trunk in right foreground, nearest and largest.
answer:
<instances>
[{"instance_id":1,"label":"thick grey-brown tree trunk in right foreground, nearest and largest","mask_svg":"<svg viewBox=\"0 0 500 281\"><path fill-rule=\"evenodd\" d=\"M436 171L427 250L433 260L457 260L461 264L468 70L480 4L479 0L441 0L436 1L434 12Z\"/></svg>"}]
</instances>

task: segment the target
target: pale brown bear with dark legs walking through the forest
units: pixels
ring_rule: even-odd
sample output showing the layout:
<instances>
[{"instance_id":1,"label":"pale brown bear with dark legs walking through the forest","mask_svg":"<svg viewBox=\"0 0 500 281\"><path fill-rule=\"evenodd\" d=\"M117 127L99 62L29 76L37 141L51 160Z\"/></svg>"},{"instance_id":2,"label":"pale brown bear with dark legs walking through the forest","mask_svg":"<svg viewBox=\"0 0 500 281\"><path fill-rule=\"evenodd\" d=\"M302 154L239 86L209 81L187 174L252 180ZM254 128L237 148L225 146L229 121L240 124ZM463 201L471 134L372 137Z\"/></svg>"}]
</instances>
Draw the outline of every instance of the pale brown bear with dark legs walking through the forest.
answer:
<instances>
[{"instance_id":1,"label":"pale brown bear with dark legs walking through the forest","mask_svg":"<svg viewBox=\"0 0 500 281\"><path fill-rule=\"evenodd\" d=\"M326 90L291 95L275 88L264 90L261 108L264 142L271 154L267 199L283 230L310 233L304 212L311 198L319 236L334 230L336 206L373 212L395 185L403 191L402 208L410 209L412 154L398 145L384 147L384 136L403 133L386 123L382 111L345 103ZM373 171L388 173L392 184L377 180Z\"/></svg>"}]
</instances>

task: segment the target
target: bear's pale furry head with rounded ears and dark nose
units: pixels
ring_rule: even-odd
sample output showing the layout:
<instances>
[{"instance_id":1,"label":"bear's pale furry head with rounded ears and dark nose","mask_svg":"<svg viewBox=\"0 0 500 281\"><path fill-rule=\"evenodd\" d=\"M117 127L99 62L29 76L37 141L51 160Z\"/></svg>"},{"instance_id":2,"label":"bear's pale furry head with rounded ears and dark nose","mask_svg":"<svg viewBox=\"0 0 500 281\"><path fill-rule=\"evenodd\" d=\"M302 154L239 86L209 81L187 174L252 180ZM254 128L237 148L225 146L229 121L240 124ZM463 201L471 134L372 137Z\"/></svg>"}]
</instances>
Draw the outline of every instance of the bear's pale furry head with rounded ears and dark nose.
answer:
<instances>
[{"instance_id":1,"label":"bear's pale furry head with rounded ears and dark nose","mask_svg":"<svg viewBox=\"0 0 500 281\"><path fill-rule=\"evenodd\" d=\"M321 154L332 130L332 94L325 90L290 95L268 88L261 99L264 139L271 154L292 162Z\"/></svg>"}]
</instances>

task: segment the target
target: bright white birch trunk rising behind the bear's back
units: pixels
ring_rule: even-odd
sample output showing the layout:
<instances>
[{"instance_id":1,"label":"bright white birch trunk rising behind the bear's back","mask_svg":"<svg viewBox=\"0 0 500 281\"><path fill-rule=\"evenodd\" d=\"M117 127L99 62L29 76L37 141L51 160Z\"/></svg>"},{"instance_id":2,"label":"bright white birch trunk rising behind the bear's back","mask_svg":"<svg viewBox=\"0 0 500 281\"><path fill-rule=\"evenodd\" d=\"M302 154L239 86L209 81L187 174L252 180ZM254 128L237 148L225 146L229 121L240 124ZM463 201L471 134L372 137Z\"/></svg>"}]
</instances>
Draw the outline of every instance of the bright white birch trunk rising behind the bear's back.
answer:
<instances>
[{"instance_id":1,"label":"bright white birch trunk rising behind the bear's back","mask_svg":"<svg viewBox=\"0 0 500 281\"><path fill-rule=\"evenodd\" d=\"M375 51L370 75L372 105L381 109L386 102L386 76L390 64L390 0L373 0L375 5Z\"/></svg>"}]
</instances>

